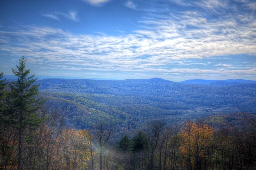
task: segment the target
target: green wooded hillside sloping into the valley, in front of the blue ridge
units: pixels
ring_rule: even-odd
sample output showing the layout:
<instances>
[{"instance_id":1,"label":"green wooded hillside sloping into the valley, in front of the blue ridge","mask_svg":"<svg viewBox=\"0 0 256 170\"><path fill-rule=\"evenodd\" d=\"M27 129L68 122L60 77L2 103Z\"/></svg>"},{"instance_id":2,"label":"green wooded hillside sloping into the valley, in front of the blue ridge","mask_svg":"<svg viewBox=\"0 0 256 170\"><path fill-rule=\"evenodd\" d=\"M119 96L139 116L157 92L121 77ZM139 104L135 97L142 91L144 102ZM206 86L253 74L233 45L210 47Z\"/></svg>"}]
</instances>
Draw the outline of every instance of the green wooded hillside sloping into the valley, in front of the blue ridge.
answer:
<instances>
[{"instance_id":1,"label":"green wooded hillside sloping into the valley, in front of the blue ridge","mask_svg":"<svg viewBox=\"0 0 256 170\"><path fill-rule=\"evenodd\" d=\"M43 92L42 96L48 97L47 103L65 110L68 123L77 128L93 128L100 120L113 122L114 125L123 124L127 114L105 104L87 100L81 94Z\"/></svg>"}]
</instances>

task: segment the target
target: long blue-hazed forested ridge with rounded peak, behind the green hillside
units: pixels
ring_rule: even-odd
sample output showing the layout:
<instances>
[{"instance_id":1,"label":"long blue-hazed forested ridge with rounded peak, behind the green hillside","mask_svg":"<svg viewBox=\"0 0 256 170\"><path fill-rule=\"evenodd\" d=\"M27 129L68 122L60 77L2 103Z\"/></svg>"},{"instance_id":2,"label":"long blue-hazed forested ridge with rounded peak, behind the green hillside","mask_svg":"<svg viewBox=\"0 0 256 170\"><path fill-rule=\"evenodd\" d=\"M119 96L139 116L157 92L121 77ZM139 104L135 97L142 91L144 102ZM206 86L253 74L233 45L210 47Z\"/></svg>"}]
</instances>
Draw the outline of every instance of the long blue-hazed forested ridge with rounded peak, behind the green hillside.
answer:
<instances>
[{"instance_id":1,"label":"long blue-hazed forested ridge with rounded peak, behind the green hillside","mask_svg":"<svg viewBox=\"0 0 256 170\"><path fill-rule=\"evenodd\" d=\"M148 104L167 110L192 107L248 107L256 98L256 84L209 86L180 84L162 79L144 80L40 80L48 92L86 94L86 98L112 106ZM254 109L255 110L255 109Z\"/></svg>"}]
</instances>

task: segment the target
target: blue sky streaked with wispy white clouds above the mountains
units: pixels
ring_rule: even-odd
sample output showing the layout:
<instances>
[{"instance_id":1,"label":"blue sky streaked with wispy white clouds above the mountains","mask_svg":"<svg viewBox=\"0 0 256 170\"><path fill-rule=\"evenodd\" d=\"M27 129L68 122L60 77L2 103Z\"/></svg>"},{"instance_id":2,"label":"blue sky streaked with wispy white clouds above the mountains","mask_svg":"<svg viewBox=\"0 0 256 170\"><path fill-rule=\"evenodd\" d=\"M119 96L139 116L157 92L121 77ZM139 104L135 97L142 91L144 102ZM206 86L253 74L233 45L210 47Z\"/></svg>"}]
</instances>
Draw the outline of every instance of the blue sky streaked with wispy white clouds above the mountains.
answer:
<instances>
[{"instance_id":1,"label":"blue sky streaked with wispy white clouds above the mountains","mask_svg":"<svg viewBox=\"0 0 256 170\"><path fill-rule=\"evenodd\" d=\"M256 80L255 0L1 0L0 72Z\"/></svg>"}]
</instances>

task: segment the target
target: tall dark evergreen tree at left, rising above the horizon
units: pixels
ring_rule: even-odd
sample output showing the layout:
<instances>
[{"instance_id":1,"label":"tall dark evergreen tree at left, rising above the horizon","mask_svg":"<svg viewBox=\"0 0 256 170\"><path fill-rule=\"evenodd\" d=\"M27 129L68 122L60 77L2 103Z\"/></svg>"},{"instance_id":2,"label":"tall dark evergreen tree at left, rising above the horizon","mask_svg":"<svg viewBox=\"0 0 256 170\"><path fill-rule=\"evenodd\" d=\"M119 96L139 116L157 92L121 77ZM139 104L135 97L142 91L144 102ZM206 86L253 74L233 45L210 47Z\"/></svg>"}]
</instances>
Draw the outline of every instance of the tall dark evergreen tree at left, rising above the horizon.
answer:
<instances>
[{"instance_id":1,"label":"tall dark evergreen tree at left, rising above the horizon","mask_svg":"<svg viewBox=\"0 0 256 170\"><path fill-rule=\"evenodd\" d=\"M25 69L25 57L22 56L19 61L20 65L16 66L17 70L12 69L12 72L17 76L17 81L11 81L9 84L11 107L8 113L11 114L10 123L18 127L19 131L18 170L21 170L23 132L25 130L35 129L44 120L44 118L38 118L36 114L36 111L42 106L44 100L42 100L42 98L36 98L39 85L33 84L34 81L36 81L36 79L34 79L35 75L29 76L30 69Z\"/></svg>"}]
</instances>

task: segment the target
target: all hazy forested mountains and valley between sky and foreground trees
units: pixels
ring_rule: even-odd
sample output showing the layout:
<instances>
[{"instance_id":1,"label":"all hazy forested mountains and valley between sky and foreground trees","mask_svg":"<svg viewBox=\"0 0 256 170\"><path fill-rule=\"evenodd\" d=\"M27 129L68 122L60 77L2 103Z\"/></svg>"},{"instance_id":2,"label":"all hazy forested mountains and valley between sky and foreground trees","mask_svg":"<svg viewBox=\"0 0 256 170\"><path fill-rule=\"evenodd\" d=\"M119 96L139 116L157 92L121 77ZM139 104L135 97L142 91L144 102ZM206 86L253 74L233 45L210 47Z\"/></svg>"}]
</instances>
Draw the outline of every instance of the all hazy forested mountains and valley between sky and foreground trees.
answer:
<instances>
[{"instance_id":1,"label":"all hazy forested mountains and valley between sky and foreground trees","mask_svg":"<svg viewBox=\"0 0 256 170\"><path fill-rule=\"evenodd\" d=\"M49 98L50 104L65 108L69 122L80 128L91 126L99 119L138 127L147 119L183 121L220 113L237 113L239 108L253 113L256 111L256 81L184 82L160 78L36 81L40 84L40 94ZM178 119L178 115L186 116Z\"/></svg>"}]
</instances>

